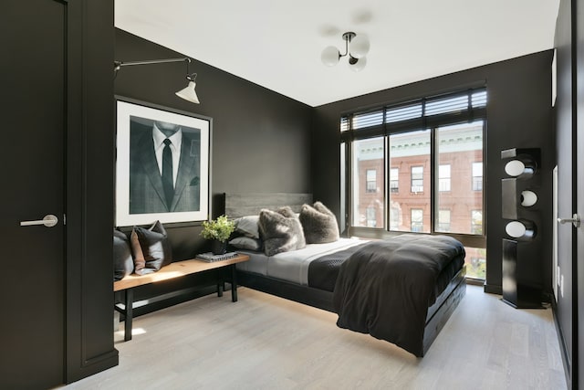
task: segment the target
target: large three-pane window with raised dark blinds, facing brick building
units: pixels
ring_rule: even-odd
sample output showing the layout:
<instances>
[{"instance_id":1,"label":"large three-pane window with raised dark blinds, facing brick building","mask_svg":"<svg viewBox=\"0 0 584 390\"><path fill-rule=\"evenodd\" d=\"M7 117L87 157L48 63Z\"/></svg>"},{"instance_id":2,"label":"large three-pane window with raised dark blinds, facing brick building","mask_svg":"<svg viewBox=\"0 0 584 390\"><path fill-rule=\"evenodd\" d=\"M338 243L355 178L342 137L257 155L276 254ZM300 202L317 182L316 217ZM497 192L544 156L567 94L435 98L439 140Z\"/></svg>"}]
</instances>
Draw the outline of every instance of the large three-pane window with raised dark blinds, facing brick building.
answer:
<instances>
[{"instance_id":1,"label":"large three-pane window with raised dark blinds, facing brick building","mask_svg":"<svg viewBox=\"0 0 584 390\"><path fill-rule=\"evenodd\" d=\"M486 105L481 87L343 115L349 235L357 227L363 237L380 237L367 227L455 235L482 251L473 256L480 271Z\"/></svg>"}]
</instances>

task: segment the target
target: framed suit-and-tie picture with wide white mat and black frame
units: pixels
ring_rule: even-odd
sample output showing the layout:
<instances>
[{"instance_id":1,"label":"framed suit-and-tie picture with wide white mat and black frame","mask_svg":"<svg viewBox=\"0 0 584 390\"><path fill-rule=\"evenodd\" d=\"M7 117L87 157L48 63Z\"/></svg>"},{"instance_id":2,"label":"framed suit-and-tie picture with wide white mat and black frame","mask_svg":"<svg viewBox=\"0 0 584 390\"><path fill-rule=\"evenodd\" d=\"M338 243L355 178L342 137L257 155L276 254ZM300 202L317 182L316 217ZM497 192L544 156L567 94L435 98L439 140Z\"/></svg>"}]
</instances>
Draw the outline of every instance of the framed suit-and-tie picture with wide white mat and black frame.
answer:
<instances>
[{"instance_id":1,"label":"framed suit-and-tie picture with wide white mat and black frame","mask_svg":"<svg viewBox=\"0 0 584 390\"><path fill-rule=\"evenodd\" d=\"M116 97L116 226L207 220L212 120Z\"/></svg>"}]
</instances>

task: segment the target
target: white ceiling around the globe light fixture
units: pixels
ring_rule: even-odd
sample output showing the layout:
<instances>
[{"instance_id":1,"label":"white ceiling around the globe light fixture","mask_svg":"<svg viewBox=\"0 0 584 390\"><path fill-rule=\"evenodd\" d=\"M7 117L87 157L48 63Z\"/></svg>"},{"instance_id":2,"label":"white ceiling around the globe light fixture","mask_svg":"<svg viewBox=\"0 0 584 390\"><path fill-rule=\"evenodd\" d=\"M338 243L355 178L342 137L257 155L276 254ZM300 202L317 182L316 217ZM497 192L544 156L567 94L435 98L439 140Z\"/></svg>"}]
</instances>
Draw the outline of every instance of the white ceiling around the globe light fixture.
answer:
<instances>
[{"instance_id":1,"label":"white ceiling around the globe light fixture","mask_svg":"<svg viewBox=\"0 0 584 390\"><path fill-rule=\"evenodd\" d=\"M553 47L559 0L115 0L115 26L310 106ZM367 67L327 68L342 33ZM156 58L116 58L118 60ZM193 69L196 71L196 69ZM203 97L204 99L204 97Z\"/></svg>"}]
</instances>

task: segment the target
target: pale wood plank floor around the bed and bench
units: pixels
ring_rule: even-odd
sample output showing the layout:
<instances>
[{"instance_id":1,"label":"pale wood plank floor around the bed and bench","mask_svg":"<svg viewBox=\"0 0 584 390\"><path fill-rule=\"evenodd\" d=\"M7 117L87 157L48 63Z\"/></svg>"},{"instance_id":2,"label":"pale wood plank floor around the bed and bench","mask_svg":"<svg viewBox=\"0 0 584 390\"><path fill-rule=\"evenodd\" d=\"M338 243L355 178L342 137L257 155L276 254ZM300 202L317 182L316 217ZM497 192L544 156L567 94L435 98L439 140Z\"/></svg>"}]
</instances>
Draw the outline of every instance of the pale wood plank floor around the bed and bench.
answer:
<instances>
[{"instance_id":1,"label":"pale wood plank floor around the bed and bench","mask_svg":"<svg viewBox=\"0 0 584 390\"><path fill-rule=\"evenodd\" d=\"M566 389L551 309L467 294L422 359L337 316L240 288L138 317L120 365L70 389Z\"/></svg>"}]
</instances>

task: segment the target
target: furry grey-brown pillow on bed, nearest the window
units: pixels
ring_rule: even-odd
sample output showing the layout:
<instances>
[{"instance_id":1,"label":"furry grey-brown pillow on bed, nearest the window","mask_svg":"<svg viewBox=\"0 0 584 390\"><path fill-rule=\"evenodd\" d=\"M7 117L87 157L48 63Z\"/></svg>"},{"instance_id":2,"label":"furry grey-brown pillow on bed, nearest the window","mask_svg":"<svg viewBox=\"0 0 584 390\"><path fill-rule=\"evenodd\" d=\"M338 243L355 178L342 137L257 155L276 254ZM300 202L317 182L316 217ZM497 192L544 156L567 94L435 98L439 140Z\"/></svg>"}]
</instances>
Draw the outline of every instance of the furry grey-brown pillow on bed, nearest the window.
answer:
<instances>
[{"instance_id":1,"label":"furry grey-brown pillow on bed, nearest the window","mask_svg":"<svg viewBox=\"0 0 584 390\"><path fill-rule=\"evenodd\" d=\"M337 217L322 203L316 202L314 206L303 205L299 218L307 244L324 244L339 240Z\"/></svg>"}]
</instances>

